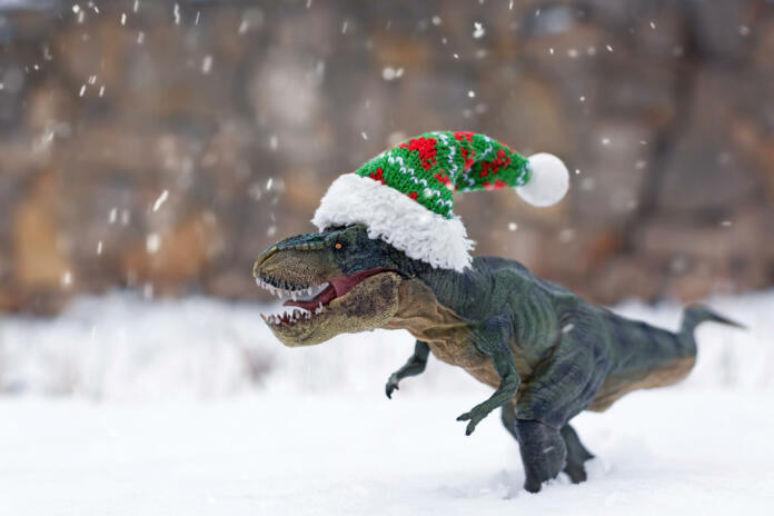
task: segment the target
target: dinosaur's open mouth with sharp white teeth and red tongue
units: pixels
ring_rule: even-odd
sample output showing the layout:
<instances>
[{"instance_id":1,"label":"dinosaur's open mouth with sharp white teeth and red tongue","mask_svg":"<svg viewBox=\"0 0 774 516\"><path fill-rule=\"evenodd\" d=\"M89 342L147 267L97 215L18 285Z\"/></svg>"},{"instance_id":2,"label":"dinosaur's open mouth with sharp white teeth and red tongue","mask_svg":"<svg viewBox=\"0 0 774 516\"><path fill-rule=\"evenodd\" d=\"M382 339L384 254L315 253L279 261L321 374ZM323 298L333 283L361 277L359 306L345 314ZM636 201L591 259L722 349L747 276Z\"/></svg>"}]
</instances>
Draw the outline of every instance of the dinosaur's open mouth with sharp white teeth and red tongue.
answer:
<instances>
[{"instance_id":1,"label":"dinosaur's open mouth with sharp white teeth and red tongue","mask_svg":"<svg viewBox=\"0 0 774 516\"><path fill-rule=\"evenodd\" d=\"M309 322L324 314L330 301L345 296L366 278L387 270L391 269L379 267L361 270L319 285L289 285L287 281L259 275L256 277L256 284L259 287L279 297L280 300L289 298L282 304L282 307L292 307L291 311L282 310L281 314L261 314L260 316L272 327L289 327Z\"/></svg>"}]
</instances>

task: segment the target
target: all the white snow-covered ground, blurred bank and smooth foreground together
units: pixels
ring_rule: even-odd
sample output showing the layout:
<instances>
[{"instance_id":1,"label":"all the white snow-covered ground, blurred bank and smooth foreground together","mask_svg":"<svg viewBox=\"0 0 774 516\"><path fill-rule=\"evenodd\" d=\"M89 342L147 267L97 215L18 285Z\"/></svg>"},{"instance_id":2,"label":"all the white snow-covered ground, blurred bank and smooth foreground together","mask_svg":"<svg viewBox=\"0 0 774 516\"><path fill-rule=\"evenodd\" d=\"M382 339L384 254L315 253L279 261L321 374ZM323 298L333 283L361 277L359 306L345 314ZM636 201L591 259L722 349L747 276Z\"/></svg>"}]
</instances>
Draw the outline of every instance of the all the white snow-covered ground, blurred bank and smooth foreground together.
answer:
<instances>
[{"instance_id":1,"label":"all the white snow-covered ground, blurred bank and smooth foreground together","mask_svg":"<svg viewBox=\"0 0 774 516\"><path fill-rule=\"evenodd\" d=\"M525 493L489 395L431 361L387 400L403 331L281 347L260 307L82 299L0 319L0 515L771 514L774 294L708 300L750 327L699 328L679 386L576 428L589 482ZM674 305L619 311L675 328Z\"/></svg>"}]
</instances>

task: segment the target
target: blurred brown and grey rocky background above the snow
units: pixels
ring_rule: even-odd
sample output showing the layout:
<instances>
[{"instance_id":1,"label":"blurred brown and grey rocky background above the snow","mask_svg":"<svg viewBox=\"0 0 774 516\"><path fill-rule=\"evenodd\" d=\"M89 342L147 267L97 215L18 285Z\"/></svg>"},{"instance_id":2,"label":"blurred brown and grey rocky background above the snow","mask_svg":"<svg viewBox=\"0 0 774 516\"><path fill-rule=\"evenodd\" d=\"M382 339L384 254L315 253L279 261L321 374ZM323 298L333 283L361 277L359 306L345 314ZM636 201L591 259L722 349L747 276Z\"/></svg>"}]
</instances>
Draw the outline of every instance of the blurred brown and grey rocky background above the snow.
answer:
<instances>
[{"instance_id":1,"label":"blurred brown and grey rocky background above the snow","mask_svg":"<svg viewBox=\"0 0 774 516\"><path fill-rule=\"evenodd\" d=\"M774 2L0 0L0 309L260 299L255 257L406 137L562 156L460 196L477 252L598 302L774 284Z\"/></svg>"}]
</instances>

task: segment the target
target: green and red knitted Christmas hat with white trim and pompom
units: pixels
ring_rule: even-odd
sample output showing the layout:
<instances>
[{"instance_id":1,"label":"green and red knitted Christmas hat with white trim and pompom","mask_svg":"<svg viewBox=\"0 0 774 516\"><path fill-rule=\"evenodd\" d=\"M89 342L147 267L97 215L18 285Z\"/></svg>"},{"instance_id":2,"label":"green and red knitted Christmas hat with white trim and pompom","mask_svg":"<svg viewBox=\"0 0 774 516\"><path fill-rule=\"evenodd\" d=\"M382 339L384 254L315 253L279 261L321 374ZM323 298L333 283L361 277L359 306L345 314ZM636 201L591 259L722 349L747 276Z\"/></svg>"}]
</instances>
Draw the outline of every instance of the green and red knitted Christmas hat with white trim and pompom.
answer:
<instances>
[{"instance_id":1,"label":"green and red knitted Christmas hat with white trim and pompom","mask_svg":"<svg viewBox=\"0 0 774 516\"><path fill-rule=\"evenodd\" d=\"M530 205L550 206L568 186L555 156L524 158L473 132L426 132L337 178L311 221L320 231L363 224L409 258L462 271L474 242L452 212L453 192L515 187Z\"/></svg>"}]
</instances>

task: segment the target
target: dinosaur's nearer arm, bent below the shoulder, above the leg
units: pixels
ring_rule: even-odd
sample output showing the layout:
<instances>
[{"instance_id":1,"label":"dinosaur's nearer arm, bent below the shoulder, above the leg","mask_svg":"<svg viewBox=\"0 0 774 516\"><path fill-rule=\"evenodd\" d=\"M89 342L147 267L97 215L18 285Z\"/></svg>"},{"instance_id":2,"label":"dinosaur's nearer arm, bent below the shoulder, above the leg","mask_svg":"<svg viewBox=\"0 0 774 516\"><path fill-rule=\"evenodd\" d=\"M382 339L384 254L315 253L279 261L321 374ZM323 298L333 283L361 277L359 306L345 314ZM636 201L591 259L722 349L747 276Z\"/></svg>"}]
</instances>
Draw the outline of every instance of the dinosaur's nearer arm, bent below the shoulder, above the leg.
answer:
<instances>
[{"instance_id":1,"label":"dinosaur's nearer arm, bent below the shoulder, above the leg","mask_svg":"<svg viewBox=\"0 0 774 516\"><path fill-rule=\"evenodd\" d=\"M467 421L465 435L473 434L486 416L496 408L499 408L516 396L518 386L522 383L514 355L508 346L510 340L510 325L505 317L493 317L488 319L474 333L474 345L476 348L492 357L497 375L500 377L499 387L486 401L476 405L470 411L457 418L458 421Z\"/></svg>"}]
</instances>

